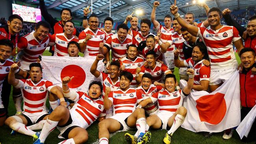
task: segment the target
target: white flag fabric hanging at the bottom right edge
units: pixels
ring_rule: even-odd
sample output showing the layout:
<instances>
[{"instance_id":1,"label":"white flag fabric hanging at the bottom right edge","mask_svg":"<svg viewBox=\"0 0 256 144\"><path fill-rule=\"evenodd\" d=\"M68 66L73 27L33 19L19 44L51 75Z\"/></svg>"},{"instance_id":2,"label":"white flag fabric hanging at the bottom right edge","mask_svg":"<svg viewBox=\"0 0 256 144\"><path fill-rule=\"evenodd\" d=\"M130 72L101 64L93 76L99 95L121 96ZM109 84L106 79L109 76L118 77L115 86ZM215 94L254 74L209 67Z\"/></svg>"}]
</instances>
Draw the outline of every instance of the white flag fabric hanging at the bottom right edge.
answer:
<instances>
[{"instance_id":1,"label":"white flag fabric hanging at the bottom right edge","mask_svg":"<svg viewBox=\"0 0 256 144\"><path fill-rule=\"evenodd\" d=\"M243 138L243 136L245 137L248 136L250 132L250 128L252 127L252 124L255 121L255 118L256 118L256 105L252 107L250 112L245 116L245 118L242 120L242 122L239 124L239 126L236 129L241 139Z\"/></svg>"}]
</instances>

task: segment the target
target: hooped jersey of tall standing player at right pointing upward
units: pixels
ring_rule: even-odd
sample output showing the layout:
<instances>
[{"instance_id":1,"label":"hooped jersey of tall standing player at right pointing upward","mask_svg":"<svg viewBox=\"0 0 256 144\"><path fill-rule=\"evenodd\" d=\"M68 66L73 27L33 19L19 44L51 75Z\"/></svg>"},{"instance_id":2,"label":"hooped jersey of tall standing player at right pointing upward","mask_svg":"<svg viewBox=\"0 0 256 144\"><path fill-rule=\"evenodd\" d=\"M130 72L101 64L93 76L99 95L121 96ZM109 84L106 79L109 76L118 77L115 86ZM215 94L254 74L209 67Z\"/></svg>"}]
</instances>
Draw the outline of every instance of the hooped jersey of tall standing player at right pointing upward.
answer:
<instances>
[{"instance_id":1,"label":"hooped jersey of tall standing player at right pointing upward","mask_svg":"<svg viewBox=\"0 0 256 144\"><path fill-rule=\"evenodd\" d=\"M222 26L219 30L198 28L200 37L208 50L211 70L237 68L233 42L241 39L239 32L233 26Z\"/></svg>"}]
</instances>

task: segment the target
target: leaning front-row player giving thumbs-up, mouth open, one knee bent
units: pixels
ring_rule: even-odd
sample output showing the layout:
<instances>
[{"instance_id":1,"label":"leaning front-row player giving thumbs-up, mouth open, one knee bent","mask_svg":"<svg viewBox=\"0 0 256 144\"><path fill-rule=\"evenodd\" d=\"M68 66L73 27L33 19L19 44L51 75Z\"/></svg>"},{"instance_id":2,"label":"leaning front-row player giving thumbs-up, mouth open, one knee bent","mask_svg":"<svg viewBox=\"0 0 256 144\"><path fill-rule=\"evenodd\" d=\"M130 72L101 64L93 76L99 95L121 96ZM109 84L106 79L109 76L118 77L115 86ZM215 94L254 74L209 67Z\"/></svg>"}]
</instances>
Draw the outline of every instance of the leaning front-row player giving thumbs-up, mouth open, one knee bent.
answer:
<instances>
[{"instance_id":1,"label":"leaning front-row player giving thumbs-up, mouth open, one knee bent","mask_svg":"<svg viewBox=\"0 0 256 144\"><path fill-rule=\"evenodd\" d=\"M43 144L46 137L57 126L59 138L66 138L59 144L83 144L88 140L88 133L85 130L89 127L104 110L102 90L100 81L91 81L88 94L85 92L70 91L69 81L74 77L62 79L62 89L64 96L74 101L72 109L58 106L47 118L43 126L40 137L34 144Z\"/></svg>"}]
</instances>

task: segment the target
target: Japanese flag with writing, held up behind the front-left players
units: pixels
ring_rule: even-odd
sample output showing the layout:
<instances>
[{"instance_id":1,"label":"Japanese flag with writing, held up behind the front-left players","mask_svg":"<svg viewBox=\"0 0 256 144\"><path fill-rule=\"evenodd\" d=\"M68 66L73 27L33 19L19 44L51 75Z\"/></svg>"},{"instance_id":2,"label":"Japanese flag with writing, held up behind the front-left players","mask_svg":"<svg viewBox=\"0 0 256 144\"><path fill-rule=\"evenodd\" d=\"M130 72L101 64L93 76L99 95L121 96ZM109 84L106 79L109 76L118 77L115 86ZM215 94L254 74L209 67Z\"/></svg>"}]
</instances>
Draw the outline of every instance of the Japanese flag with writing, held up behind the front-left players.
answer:
<instances>
[{"instance_id":1,"label":"Japanese flag with writing, held up behind the front-left players","mask_svg":"<svg viewBox=\"0 0 256 144\"><path fill-rule=\"evenodd\" d=\"M54 57L42 56L43 78L51 81L54 85L62 87L62 79L65 76L74 78L69 82L71 90L87 92L91 80L98 80L90 72L95 59L84 57ZM97 70L102 72L104 64L98 63ZM99 81L99 80L98 80Z\"/></svg>"}]
</instances>

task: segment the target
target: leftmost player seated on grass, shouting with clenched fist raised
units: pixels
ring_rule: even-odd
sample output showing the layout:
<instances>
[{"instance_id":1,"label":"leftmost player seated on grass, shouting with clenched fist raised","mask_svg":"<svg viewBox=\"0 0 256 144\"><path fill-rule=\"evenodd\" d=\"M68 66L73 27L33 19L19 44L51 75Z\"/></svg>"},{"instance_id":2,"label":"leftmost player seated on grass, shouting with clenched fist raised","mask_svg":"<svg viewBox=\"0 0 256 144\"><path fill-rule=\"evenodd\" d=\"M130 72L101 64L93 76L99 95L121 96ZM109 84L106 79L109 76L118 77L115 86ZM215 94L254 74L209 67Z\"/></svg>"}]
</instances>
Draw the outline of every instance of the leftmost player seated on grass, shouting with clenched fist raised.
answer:
<instances>
[{"instance_id":1,"label":"leftmost player seated on grass, shouting with clenched fist raised","mask_svg":"<svg viewBox=\"0 0 256 144\"><path fill-rule=\"evenodd\" d=\"M7 118L5 124L14 130L12 133L17 131L38 138L39 133L26 126L46 120L49 115L45 105L48 95L49 99L57 100L59 98L60 104L63 106L67 106L67 103L60 87L53 85L52 82L46 79L42 79L43 72L39 63L31 63L29 68L30 79L15 79L15 71L19 69L19 66L16 63L11 65L8 82L13 87L20 88L24 100L24 111L22 111L22 114Z\"/></svg>"}]
</instances>

